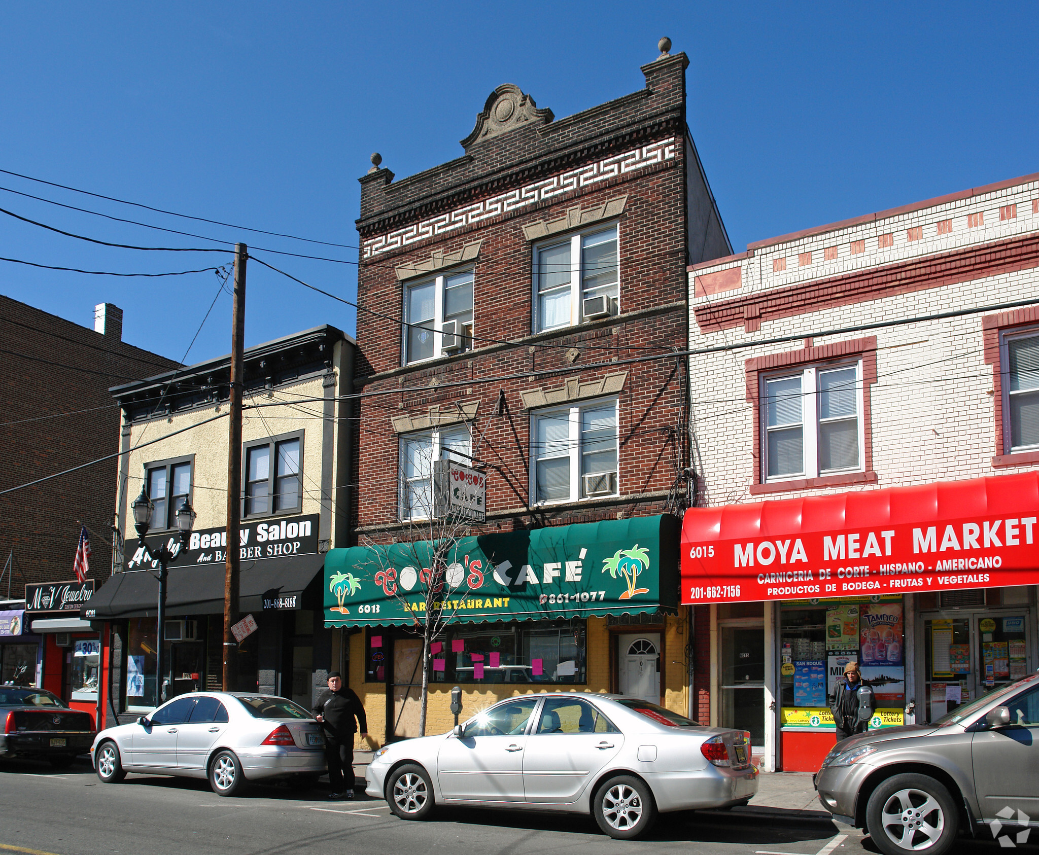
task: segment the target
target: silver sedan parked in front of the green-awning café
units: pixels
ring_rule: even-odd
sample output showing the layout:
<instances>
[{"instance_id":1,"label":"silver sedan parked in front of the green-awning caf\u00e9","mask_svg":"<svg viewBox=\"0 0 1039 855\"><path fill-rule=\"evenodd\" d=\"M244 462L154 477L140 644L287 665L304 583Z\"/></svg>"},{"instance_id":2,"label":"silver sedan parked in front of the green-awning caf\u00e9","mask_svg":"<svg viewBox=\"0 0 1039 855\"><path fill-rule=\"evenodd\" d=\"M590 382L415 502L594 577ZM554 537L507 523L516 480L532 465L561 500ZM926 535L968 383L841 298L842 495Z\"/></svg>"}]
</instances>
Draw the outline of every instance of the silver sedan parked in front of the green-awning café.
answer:
<instances>
[{"instance_id":1,"label":"silver sedan parked in front of the green-awning caf\u00e9","mask_svg":"<svg viewBox=\"0 0 1039 855\"><path fill-rule=\"evenodd\" d=\"M631 839L658 812L746 804L757 792L749 733L700 727L621 695L522 695L449 733L375 752L369 796L404 820L434 805L591 813Z\"/></svg>"}]
</instances>

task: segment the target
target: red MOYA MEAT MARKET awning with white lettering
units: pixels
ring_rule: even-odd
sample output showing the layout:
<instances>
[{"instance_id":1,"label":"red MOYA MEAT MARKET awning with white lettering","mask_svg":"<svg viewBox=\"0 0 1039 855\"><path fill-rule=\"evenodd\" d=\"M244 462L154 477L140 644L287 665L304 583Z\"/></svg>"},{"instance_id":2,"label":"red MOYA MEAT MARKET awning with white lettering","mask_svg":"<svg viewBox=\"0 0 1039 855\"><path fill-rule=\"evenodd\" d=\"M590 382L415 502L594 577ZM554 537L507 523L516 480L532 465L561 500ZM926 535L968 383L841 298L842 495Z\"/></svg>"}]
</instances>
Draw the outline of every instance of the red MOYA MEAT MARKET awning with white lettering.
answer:
<instances>
[{"instance_id":1,"label":"red MOYA MEAT MARKET awning with white lettering","mask_svg":"<svg viewBox=\"0 0 1039 855\"><path fill-rule=\"evenodd\" d=\"M691 508L682 602L1039 584L1039 473Z\"/></svg>"}]
</instances>

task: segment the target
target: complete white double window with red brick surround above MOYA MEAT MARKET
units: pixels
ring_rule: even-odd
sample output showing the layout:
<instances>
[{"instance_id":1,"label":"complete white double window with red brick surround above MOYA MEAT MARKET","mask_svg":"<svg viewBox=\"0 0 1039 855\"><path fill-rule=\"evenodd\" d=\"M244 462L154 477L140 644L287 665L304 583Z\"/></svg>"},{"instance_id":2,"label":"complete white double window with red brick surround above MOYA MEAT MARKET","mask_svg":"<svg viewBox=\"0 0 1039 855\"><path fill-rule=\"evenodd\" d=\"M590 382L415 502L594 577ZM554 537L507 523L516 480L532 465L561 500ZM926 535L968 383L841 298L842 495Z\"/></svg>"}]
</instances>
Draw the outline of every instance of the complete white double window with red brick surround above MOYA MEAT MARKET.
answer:
<instances>
[{"instance_id":1,"label":"complete white double window with red brick surround above MOYA MEAT MARKET","mask_svg":"<svg viewBox=\"0 0 1039 855\"><path fill-rule=\"evenodd\" d=\"M766 480L862 470L861 363L799 368L762 384Z\"/></svg>"}]
</instances>

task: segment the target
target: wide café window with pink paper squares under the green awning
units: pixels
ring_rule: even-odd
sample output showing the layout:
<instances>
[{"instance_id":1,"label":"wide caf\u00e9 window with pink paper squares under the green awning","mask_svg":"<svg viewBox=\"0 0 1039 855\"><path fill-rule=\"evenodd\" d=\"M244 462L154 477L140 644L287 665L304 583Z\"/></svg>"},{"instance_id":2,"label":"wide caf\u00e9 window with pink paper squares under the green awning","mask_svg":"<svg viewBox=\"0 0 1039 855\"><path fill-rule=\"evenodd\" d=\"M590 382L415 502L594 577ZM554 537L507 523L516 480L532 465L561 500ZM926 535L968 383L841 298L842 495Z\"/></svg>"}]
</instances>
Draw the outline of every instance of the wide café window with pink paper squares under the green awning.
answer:
<instances>
[{"instance_id":1,"label":"wide caf\u00e9 window with pink paper squares under the green awning","mask_svg":"<svg viewBox=\"0 0 1039 855\"><path fill-rule=\"evenodd\" d=\"M432 683L587 682L583 620L459 624L449 627L430 653Z\"/></svg>"}]
</instances>

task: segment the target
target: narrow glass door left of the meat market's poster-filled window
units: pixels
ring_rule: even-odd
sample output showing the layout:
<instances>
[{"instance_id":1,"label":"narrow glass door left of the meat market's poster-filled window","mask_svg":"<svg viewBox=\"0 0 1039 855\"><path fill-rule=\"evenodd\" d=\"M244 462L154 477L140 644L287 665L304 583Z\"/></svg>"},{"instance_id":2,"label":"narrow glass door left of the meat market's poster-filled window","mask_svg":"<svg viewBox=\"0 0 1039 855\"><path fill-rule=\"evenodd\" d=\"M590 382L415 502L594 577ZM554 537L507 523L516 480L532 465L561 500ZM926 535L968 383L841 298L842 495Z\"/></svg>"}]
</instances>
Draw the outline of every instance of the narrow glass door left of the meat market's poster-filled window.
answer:
<instances>
[{"instance_id":1,"label":"narrow glass door left of the meat market's poster-filled window","mask_svg":"<svg viewBox=\"0 0 1039 855\"><path fill-rule=\"evenodd\" d=\"M765 624L719 622L719 724L748 730L754 753L765 746Z\"/></svg>"}]
</instances>

